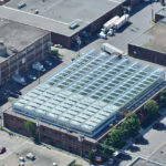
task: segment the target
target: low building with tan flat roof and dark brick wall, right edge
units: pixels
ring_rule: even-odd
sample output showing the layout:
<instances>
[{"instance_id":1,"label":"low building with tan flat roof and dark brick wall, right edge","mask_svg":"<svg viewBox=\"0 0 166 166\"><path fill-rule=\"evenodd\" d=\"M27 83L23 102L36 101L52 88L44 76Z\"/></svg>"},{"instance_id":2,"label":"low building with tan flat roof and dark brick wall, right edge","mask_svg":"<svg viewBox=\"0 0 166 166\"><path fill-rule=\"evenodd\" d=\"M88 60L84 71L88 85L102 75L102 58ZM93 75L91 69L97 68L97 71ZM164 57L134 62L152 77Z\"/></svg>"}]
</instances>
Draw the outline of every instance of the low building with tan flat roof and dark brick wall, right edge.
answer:
<instances>
[{"instance_id":1,"label":"low building with tan flat roof and dark brick wall, right edge","mask_svg":"<svg viewBox=\"0 0 166 166\"><path fill-rule=\"evenodd\" d=\"M158 21L154 27L128 43L131 56L166 64L166 19Z\"/></svg>"}]
</instances>

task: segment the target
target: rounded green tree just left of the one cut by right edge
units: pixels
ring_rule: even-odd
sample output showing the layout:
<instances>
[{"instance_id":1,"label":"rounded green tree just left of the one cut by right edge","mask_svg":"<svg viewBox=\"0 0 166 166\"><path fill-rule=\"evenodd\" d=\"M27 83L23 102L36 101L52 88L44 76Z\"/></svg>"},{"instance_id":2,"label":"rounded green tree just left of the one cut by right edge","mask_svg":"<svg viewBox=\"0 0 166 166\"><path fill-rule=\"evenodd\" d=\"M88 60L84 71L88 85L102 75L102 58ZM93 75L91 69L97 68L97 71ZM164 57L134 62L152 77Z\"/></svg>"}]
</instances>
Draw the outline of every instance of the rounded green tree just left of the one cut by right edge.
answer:
<instances>
[{"instance_id":1,"label":"rounded green tree just left of the one cut by right edge","mask_svg":"<svg viewBox=\"0 0 166 166\"><path fill-rule=\"evenodd\" d=\"M158 105L154 100L149 100L145 103L143 113L147 118L155 118L158 116Z\"/></svg>"}]
</instances>

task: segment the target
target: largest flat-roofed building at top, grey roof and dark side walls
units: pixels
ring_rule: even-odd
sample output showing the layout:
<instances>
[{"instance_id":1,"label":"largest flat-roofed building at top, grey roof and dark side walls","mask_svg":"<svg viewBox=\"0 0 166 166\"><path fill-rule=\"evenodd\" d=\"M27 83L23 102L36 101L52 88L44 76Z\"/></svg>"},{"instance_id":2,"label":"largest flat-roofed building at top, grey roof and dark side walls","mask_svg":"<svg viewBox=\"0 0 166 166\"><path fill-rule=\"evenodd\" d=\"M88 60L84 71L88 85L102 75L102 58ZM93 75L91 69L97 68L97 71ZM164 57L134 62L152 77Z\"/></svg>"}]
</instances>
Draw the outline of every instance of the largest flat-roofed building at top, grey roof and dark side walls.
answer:
<instances>
[{"instance_id":1,"label":"largest flat-roofed building at top, grey roof and dark side walls","mask_svg":"<svg viewBox=\"0 0 166 166\"><path fill-rule=\"evenodd\" d=\"M127 6L139 2L139 0L128 1ZM6 7L0 7L0 15L50 31L54 44L71 49L77 46L77 35L89 38L111 18L122 15L126 0L50 0L44 2L24 0L24 2L27 6L18 9L18 0L9 1ZM37 11L38 14L35 14Z\"/></svg>"}]
</instances>

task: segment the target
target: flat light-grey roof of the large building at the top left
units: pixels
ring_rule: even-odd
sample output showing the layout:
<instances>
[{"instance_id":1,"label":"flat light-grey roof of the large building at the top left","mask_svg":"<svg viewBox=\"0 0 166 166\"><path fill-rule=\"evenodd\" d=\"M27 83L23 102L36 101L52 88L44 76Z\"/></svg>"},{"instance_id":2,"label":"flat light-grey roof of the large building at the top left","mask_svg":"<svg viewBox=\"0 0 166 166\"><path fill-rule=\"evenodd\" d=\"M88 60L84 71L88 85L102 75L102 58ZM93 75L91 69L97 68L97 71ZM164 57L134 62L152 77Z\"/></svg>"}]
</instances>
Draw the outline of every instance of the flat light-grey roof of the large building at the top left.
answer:
<instances>
[{"instance_id":1,"label":"flat light-grey roof of the large building at the top left","mask_svg":"<svg viewBox=\"0 0 166 166\"><path fill-rule=\"evenodd\" d=\"M18 9L20 0L9 1L6 7L14 10L9 11L3 6L0 9L0 15L15 21L23 21L23 23L30 25L35 22L38 28L71 37L117 7L122 3L122 0L45 0L44 2L42 0L24 0L23 2L27 6ZM39 14L34 14L35 10L39 11ZM17 17L13 17L13 13ZM69 29L71 22L75 20L80 22L80 27L74 30Z\"/></svg>"}]
</instances>

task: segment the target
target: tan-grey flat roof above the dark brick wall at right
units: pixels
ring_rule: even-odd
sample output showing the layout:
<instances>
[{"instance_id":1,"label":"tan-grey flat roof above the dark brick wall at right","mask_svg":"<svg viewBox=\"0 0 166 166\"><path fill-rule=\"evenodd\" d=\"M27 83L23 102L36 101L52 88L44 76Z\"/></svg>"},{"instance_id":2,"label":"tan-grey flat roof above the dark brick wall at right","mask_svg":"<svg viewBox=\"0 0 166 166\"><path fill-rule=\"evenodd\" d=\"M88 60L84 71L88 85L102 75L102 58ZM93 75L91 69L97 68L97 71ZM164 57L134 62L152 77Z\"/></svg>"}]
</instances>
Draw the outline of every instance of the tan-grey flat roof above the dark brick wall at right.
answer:
<instances>
[{"instance_id":1,"label":"tan-grey flat roof above the dark brick wall at right","mask_svg":"<svg viewBox=\"0 0 166 166\"><path fill-rule=\"evenodd\" d=\"M149 30L134 39L129 44L166 54L166 22L158 22Z\"/></svg>"}]
</instances>

